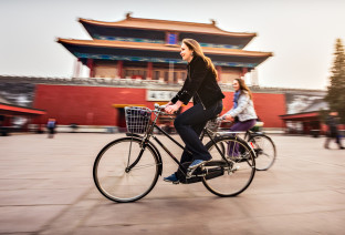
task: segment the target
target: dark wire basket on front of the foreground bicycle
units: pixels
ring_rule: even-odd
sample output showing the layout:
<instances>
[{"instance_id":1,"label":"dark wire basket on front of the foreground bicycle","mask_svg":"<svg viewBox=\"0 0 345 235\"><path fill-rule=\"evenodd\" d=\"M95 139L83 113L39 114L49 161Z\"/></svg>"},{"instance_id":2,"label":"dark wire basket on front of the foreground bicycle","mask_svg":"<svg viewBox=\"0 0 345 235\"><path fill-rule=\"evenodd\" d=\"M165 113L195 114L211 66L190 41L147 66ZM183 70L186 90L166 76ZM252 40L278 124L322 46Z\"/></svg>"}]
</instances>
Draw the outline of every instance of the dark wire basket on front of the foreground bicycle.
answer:
<instances>
[{"instance_id":1,"label":"dark wire basket on front of the foreground bicycle","mask_svg":"<svg viewBox=\"0 0 345 235\"><path fill-rule=\"evenodd\" d=\"M125 106L125 116L127 131L143 134L148 127L151 111L143 106Z\"/></svg>"}]
</instances>

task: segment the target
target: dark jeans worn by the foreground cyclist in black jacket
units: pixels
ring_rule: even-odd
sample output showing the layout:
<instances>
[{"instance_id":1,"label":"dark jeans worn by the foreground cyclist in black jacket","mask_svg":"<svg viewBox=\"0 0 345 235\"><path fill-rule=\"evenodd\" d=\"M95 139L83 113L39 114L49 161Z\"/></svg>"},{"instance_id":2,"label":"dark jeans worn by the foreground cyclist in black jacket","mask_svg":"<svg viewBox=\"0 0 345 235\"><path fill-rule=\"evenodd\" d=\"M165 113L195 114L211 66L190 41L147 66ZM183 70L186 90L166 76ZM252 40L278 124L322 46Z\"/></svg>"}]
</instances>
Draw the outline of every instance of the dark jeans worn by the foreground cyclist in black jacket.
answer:
<instances>
[{"instance_id":1,"label":"dark jeans worn by the foreground cyclist in black jacket","mask_svg":"<svg viewBox=\"0 0 345 235\"><path fill-rule=\"evenodd\" d=\"M179 114L174 124L177 133L186 144L186 149L191 152L189 154L184 151L180 163L191 162L192 160L210 160L210 153L206 150L199 136L206 123L216 117L222 111L222 101L217 102L212 106L203 110L199 103Z\"/></svg>"}]
</instances>

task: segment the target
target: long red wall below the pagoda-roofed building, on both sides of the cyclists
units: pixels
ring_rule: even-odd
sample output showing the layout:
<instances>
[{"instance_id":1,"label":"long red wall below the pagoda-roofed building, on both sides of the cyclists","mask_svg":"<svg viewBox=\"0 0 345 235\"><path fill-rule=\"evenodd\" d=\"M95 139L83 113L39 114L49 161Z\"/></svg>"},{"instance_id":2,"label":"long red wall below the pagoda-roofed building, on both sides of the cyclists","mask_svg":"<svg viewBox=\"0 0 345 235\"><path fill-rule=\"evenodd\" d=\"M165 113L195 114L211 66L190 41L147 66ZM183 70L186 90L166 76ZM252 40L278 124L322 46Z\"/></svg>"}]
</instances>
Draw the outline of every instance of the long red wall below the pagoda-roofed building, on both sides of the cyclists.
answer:
<instances>
[{"instance_id":1,"label":"long red wall below the pagoda-roofed building, on both sides of the cyclists","mask_svg":"<svg viewBox=\"0 0 345 235\"><path fill-rule=\"evenodd\" d=\"M231 109L233 98L233 92L224 94L222 113ZM284 94L254 93L253 101L264 127L283 126L279 115L285 114ZM117 125L117 110L113 104L143 104L153 109L154 103L146 101L146 89L39 84L34 108L45 110L48 115L35 123L46 123L48 117L55 117L64 125Z\"/></svg>"}]
</instances>

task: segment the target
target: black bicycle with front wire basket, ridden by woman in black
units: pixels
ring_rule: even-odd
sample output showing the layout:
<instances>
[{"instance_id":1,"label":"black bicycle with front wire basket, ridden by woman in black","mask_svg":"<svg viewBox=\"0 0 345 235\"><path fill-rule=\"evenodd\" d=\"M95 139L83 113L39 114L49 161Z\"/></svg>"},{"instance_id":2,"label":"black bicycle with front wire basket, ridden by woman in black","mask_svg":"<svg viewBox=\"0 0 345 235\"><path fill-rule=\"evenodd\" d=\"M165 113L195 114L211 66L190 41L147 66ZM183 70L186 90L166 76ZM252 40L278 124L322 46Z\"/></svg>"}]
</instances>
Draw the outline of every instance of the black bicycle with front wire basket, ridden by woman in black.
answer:
<instances>
[{"instance_id":1,"label":"black bicycle with front wire basket, ridden by woman in black","mask_svg":"<svg viewBox=\"0 0 345 235\"><path fill-rule=\"evenodd\" d=\"M190 162L179 163L154 134L154 129L156 129L185 150L180 143L156 124L158 116L165 114L163 109L164 106L158 104L155 104L155 110L125 108L127 136L105 145L93 165L94 183L106 198L119 203L135 202L155 187L163 172L163 159L150 139L154 139L178 165L179 183L202 182L208 191L224 197L236 196L249 187L255 173L255 153L244 140L236 136L212 137L211 132L205 127L205 133L210 137L206 147L212 160L189 174L187 170ZM153 120L151 114L155 115ZM237 159L234 151L230 151L232 155L224 154L221 147L230 143L241 146L242 157Z\"/></svg>"}]
</instances>

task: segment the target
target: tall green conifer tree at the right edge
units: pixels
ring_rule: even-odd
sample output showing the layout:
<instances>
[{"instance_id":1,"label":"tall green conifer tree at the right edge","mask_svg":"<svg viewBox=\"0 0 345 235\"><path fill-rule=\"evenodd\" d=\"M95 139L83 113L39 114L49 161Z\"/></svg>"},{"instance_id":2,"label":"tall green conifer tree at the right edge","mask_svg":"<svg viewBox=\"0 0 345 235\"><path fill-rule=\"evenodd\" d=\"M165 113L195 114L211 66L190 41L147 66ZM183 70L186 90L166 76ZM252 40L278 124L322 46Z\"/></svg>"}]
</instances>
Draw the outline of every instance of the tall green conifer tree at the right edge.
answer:
<instances>
[{"instance_id":1,"label":"tall green conifer tree at the right edge","mask_svg":"<svg viewBox=\"0 0 345 235\"><path fill-rule=\"evenodd\" d=\"M336 39L334 62L330 78L330 86L325 96L331 111L339 114L341 122L345 123L345 52L341 39Z\"/></svg>"}]
</instances>

